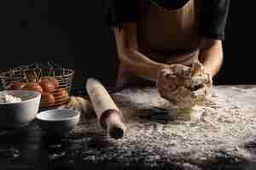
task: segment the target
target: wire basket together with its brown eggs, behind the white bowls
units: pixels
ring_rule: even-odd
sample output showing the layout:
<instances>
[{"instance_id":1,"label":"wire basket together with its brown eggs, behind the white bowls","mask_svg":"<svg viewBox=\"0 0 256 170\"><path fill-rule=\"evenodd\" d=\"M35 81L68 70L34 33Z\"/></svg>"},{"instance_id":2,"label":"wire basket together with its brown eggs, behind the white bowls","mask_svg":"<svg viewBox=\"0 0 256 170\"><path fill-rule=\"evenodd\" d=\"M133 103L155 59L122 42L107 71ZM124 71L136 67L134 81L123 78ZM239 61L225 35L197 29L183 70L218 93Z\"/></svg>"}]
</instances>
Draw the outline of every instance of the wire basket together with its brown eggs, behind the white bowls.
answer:
<instances>
[{"instance_id":1,"label":"wire basket together with its brown eggs, behind the white bowls","mask_svg":"<svg viewBox=\"0 0 256 170\"><path fill-rule=\"evenodd\" d=\"M40 111L58 108L70 99L74 71L47 65L23 65L3 72L5 90L32 90L41 93Z\"/></svg>"}]
</instances>

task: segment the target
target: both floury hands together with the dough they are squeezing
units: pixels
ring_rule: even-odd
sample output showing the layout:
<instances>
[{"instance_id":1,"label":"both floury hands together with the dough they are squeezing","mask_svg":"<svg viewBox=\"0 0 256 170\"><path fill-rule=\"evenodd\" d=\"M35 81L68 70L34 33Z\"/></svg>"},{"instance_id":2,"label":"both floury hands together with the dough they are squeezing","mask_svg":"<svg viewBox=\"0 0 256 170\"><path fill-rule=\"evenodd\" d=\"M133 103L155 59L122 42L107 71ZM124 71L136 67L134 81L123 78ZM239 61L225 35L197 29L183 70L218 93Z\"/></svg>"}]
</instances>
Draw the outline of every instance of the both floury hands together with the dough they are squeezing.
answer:
<instances>
[{"instance_id":1,"label":"both floury hands together with the dough they are squeezing","mask_svg":"<svg viewBox=\"0 0 256 170\"><path fill-rule=\"evenodd\" d=\"M212 94L212 77L198 61L191 67L170 65L160 72L156 86L162 98L180 109L190 109L203 105Z\"/></svg>"}]
</instances>

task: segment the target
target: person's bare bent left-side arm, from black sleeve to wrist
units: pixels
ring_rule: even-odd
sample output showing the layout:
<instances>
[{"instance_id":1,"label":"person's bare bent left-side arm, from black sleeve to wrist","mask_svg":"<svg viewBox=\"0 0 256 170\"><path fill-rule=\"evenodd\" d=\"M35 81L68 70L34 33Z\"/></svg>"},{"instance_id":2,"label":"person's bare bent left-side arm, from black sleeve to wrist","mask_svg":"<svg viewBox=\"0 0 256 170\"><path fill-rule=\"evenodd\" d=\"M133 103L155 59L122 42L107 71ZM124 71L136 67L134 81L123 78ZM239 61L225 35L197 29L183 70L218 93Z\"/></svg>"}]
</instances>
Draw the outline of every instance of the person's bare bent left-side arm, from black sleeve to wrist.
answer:
<instances>
[{"instance_id":1,"label":"person's bare bent left-side arm, from black sleeve to wrist","mask_svg":"<svg viewBox=\"0 0 256 170\"><path fill-rule=\"evenodd\" d=\"M125 23L122 27L113 27L120 65L129 74L156 81L158 73L164 66L148 59L139 52L137 44L137 24Z\"/></svg>"}]
</instances>

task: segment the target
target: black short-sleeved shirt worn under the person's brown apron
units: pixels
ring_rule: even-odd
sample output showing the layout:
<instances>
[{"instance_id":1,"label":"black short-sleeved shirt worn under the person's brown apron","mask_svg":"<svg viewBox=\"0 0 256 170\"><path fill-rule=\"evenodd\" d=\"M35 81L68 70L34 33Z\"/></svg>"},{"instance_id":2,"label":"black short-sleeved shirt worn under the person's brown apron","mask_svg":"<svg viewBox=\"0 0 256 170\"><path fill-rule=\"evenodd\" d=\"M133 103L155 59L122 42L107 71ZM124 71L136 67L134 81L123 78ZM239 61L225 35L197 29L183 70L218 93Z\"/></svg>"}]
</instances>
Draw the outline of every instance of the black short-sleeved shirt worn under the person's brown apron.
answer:
<instances>
[{"instance_id":1,"label":"black short-sleeved shirt worn under the person's brown apron","mask_svg":"<svg viewBox=\"0 0 256 170\"><path fill-rule=\"evenodd\" d=\"M189 0L148 0L170 10L183 7ZM108 26L124 22L137 22L138 0L108 0L106 19ZM200 0L200 33L203 37L224 40L224 29L230 0Z\"/></svg>"}]
</instances>

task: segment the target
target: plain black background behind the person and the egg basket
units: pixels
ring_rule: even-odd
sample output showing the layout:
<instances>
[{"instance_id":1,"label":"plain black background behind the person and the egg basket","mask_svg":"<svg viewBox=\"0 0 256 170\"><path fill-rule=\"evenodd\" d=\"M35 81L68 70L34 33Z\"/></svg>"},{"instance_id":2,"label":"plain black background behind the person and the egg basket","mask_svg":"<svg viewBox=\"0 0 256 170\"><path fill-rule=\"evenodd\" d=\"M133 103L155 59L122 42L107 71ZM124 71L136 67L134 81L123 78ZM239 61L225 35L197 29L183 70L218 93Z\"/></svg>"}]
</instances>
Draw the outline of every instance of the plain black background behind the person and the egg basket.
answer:
<instances>
[{"instance_id":1,"label":"plain black background behind the person and the egg basket","mask_svg":"<svg viewBox=\"0 0 256 170\"><path fill-rule=\"evenodd\" d=\"M80 88L88 77L113 84L117 56L113 35L104 23L106 0L9 0L0 7L0 70L33 61L52 60L63 67L82 69ZM252 76L252 4L231 1L224 41L224 65L215 84L255 83ZM252 72L250 74L250 72ZM77 75L79 77L79 75Z\"/></svg>"}]
</instances>

